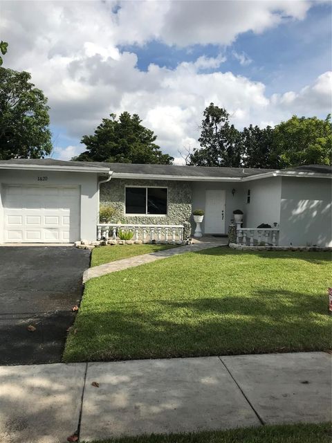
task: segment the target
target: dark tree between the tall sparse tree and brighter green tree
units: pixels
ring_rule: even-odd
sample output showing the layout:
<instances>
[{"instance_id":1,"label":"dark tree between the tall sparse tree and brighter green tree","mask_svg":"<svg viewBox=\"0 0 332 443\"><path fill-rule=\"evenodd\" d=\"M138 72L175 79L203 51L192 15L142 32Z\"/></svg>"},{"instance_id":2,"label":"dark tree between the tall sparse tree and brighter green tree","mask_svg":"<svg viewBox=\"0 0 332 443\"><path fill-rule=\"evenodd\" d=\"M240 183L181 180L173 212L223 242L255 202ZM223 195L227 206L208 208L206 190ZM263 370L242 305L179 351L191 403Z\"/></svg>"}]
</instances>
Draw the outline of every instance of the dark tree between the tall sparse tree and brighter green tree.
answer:
<instances>
[{"instance_id":1,"label":"dark tree between the tall sparse tree and brighter green tree","mask_svg":"<svg viewBox=\"0 0 332 443\"><path fill-rule=\"evenodd\" d=\"M241 132L242 165L245 168L278 168L275 152L274 130L268 126L261 129L249 125Z\"/></svg>"}]
</instances>

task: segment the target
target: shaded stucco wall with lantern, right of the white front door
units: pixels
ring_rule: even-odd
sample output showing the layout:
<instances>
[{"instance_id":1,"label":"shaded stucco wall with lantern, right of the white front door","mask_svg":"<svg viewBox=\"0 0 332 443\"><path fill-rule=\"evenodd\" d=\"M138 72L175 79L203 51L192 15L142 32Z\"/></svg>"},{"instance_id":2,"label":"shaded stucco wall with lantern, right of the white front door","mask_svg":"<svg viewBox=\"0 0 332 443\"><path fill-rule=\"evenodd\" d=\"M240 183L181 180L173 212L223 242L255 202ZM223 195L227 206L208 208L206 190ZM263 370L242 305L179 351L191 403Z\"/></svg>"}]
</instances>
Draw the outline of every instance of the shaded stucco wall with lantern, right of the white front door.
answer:
<instances>
[{"instance_id":1,"label":"shaded stucco wall with lantern, right of the white front door","mask_svg":"<svg viewBox=\"0 0 332 443\"><path fill-rule=\"evenodd\" d=\"M243 228L257 228L260 224L280 221L280 198L282 195L281 177L270 177L257 181L246 181L243 186ZM250 203L247 204L247 191L250 189Z\"/></svg>"}]
</instances>

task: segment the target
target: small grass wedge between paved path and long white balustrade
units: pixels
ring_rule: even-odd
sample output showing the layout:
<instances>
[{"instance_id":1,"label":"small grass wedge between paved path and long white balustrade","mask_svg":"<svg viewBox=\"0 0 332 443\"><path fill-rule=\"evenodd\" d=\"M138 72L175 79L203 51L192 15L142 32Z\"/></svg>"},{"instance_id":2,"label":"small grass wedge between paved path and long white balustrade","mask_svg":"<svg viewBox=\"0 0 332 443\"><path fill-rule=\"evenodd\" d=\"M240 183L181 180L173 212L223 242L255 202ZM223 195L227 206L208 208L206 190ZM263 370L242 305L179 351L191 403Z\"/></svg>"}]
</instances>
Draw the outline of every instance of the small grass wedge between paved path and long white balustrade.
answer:
<instances>
[{"instance_id":1,"label":"small grass wedge between paved path and long white balustrade","mask_svg":"<svg viewBox=\"0 0 332 443\"><path fill-rule=\"evenodd\" d=\"M100 248L94 248L92 251L91 267L115 262L122 258L134 257L135 255L163 251L163 249L174 248L176 246L178 246L178 244L117 244L113 246L101 246Z\"/></svg>"}]
</instances>

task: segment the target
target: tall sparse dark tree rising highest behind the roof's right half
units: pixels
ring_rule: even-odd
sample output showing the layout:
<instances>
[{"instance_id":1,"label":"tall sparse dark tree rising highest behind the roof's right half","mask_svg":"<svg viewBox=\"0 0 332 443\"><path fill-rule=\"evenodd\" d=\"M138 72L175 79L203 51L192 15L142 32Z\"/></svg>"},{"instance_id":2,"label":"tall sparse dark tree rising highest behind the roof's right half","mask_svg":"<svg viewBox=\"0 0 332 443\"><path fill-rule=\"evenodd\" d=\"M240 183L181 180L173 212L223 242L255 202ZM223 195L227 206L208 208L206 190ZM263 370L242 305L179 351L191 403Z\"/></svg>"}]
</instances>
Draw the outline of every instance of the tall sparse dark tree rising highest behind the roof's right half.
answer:
<instances>
[{"instance_id":1,"label":"tall sparse dark tree rising highest behind the roof's right half","mask_svg":"<svg viewBox=\"0 0 332 443\"><path fill-rule=\"evenodd\" d=\"M239 168L241 164L240 133L229 123L229 114L213 103L205 108L199 144L190 155L190 165L228 166Z\"/></svg>"}]
</instances>

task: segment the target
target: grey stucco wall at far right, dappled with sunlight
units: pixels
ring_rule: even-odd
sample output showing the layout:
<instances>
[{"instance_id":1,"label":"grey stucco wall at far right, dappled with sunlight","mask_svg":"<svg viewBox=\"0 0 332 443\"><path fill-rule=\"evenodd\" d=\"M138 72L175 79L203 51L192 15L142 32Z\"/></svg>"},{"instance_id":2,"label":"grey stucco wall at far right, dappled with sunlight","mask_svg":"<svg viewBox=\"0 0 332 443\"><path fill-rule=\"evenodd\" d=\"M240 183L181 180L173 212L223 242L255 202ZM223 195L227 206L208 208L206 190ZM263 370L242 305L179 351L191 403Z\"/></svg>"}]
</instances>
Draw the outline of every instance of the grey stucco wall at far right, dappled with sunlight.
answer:
<instances>
[{"instance_id":1,"label":"grey stucco wall at far right, dappled with sunlight","mask_svg":"<svg viewBox=\"0 0 332 443\"><path fill-rule=\"evenodd\" d=\"M332 246L331 179L282 178L282 246Z\"/></svg>"}]
</instances>

